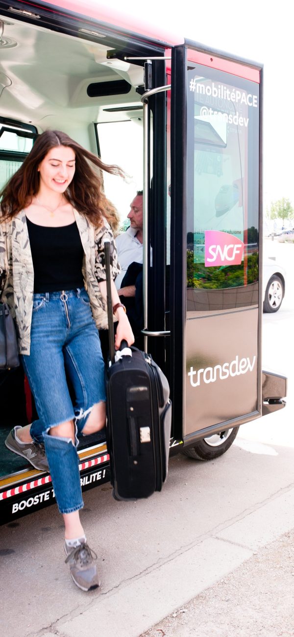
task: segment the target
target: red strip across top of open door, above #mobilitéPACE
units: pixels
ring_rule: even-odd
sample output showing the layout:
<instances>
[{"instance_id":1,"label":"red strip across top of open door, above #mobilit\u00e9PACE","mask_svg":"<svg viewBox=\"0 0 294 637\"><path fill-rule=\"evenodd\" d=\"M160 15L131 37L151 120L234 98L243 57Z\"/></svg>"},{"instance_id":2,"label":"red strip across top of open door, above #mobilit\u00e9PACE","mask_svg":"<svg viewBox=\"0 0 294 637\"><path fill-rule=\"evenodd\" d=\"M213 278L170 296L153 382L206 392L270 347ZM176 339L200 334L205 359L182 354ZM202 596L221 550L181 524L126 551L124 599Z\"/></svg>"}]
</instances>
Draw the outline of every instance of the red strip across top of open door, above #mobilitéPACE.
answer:
<instances>
[{"instance_id":1,"label":"red strip across top of open door, above #mobilit\u00e9PACE","mask_svg":"<svg viewBox=\"0 0 294 637\"><path fill-rule=\"evenodd\" d=\"M216 55L209 55L201 51L194 51L191 48L188 49L188 61L197 62L197 64L203 64L204 66L209 66L219 71L225 71L225 73L231 73L231 75L237 75L238 77L244 78L244 80L260 83L260 71L253 69L251 66L239 64L239 62L225 60Z\"/></svg>"}]
</instances>

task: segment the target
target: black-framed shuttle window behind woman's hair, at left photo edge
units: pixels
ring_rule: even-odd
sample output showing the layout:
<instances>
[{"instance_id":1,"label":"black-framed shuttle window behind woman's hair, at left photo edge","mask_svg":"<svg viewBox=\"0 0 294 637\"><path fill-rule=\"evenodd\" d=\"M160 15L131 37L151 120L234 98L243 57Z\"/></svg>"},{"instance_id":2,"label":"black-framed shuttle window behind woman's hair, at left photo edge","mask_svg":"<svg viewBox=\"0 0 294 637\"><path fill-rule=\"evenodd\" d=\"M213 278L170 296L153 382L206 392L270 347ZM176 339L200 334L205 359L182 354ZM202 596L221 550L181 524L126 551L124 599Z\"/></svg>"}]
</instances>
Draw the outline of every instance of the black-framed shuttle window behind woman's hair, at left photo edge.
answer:
<instances>
[{"instance_id":1,"label":"black-framed shuttle window behind woman's hair, at left photo edge","mask_svg":"<svg viewBox=\"0 0 294 637\"><path fill-rule=\"evenodd\" d=\"M16 131L5 125L0 127L0 190L20 168L32 143L32 138L26 137L22 129Z\"/></svg>"}]
</instances>

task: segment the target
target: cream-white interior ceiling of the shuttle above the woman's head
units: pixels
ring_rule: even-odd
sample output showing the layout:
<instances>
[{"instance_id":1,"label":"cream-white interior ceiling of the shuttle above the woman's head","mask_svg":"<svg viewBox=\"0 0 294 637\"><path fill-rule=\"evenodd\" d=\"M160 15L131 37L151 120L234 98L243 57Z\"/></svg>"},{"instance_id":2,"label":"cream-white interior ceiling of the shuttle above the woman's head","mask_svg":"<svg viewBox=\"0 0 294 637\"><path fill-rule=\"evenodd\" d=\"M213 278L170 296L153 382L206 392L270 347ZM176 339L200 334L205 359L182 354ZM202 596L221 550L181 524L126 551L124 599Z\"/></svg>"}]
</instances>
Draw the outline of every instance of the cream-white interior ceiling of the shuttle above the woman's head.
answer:
<instances>
[{"instance_id":1,"label":"cream-white interior ceiling of the shuttle above the woman's head","mask_svg":"<svg viewBox=\"0 0 294 637\"><path fill-rule=\"evenodd\" d=\"M45 118L58 121L108 121L126 119L127 113L107 113L104 108L135 105L143 84L143 67L107 60L107 44L67 36L18 20L4 21L0 43L0 114L40 124ZM15 45L15 43L17 43ZM91 82L127 80L128 94L88 97ZM132 112L134 116L134 112Z\"/></svg>"}]
</instances>

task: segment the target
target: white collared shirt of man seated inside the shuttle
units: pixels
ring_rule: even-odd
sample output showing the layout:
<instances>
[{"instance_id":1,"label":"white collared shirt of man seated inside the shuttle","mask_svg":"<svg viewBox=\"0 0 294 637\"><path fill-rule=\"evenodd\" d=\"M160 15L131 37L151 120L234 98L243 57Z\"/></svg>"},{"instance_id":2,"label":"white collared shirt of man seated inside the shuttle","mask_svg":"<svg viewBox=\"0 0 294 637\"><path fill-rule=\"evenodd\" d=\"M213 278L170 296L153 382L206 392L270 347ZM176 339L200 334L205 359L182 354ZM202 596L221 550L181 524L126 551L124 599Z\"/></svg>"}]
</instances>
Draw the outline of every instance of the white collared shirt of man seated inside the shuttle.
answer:
<instances>
[{"instance_id":1,"label":"white collared shirt of man seated inside the shuttle","mask_svg":"<svg viewBox=\"0 0 294 637\"><path fill-rule=\"evenodd\" d=\"M137 229L129 227L125 233L119 234L116 239L118 262L122 271L116 276L115 287L119 290L129 265L136 261L143 263L143 243L136 238Z\"/></svg>"}]
</instances>

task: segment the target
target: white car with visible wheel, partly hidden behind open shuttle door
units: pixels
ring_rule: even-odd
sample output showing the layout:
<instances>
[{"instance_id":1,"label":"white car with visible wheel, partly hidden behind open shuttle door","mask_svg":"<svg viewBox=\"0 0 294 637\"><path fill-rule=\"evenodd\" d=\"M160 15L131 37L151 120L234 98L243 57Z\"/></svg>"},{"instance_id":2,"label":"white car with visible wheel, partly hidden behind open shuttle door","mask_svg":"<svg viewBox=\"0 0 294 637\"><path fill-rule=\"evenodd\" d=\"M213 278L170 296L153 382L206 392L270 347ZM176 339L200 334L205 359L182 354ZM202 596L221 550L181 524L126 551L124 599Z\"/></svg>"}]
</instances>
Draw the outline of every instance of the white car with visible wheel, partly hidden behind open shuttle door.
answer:
<instances>
[{"instance_id":1,"label":"white car with visible wheel, partly hidden behind open shuttle door","mask_svg":"<svg viewBox=\"0 0 294 637\"><path fill-rule=\"evenodd\" d=\"M286 271L272 259L265 259L263 274L263 311L277 312L285 293Z\"/></svg>"}]
</instances>

